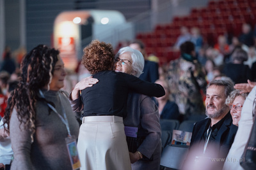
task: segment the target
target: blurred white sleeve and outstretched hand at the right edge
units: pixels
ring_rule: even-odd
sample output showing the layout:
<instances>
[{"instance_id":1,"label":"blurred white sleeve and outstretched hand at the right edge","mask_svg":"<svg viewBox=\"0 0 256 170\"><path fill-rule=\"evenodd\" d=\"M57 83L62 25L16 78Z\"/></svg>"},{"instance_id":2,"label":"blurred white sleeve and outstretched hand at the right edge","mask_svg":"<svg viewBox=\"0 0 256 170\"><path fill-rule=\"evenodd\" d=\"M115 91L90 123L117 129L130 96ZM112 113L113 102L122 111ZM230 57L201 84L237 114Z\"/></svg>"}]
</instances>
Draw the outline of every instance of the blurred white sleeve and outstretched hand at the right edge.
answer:
<instances>
[{"instance_id":1,"label":"blurred white sleeve and outstretched hand at the right edge","mask_svg":"<svg viewBox=\"0 0 256 170\"><path fill-rule=\"evenodd\" d=\"M252 111L255 110L255 100L256 100L256 82L248 80L248 83L239 83L234 86L235 89L241 90L241 93L249 92L246 97L243 108L241 110L241 118L238 122L238 130L234 143L231 146L223 170L243 170L240 162L243 161L241 158L247 141L250 137L250 132L253 125L253 114Z\"/></svg>"}]
</instances>

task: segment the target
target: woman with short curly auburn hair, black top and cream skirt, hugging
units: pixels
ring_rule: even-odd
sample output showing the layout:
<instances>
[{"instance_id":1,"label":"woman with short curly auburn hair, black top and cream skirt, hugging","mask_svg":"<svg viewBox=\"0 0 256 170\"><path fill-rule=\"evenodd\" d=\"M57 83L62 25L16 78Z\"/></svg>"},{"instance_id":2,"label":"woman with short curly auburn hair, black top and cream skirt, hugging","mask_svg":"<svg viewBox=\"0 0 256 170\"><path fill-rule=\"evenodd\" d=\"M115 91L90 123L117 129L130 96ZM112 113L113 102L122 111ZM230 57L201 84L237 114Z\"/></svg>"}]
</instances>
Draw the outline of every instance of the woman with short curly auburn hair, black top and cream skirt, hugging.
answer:
<instances>
[{"instance_id":1,"label":"woman with short curly auburn hair, black top and cream skirt, hugging","mask_svg":"<svg viewBox=\"0 0 256 170\"><path fill-rule=\"evenodd\" d=\"M110 44L95 40L86 46L82 63L99 82L92 85L93 80L82 80L69 96L75 103L81 100L77 103L83 104L84 108L77 142L83 170L131 169L123 123L127 115L128 93L133 91L148 96L164 95L161 85L113 71L114 57ZM122 59L122 64L132 64L132 61ZM86 86L88 88L84 89Z\"/></svg>"}]
</instances>

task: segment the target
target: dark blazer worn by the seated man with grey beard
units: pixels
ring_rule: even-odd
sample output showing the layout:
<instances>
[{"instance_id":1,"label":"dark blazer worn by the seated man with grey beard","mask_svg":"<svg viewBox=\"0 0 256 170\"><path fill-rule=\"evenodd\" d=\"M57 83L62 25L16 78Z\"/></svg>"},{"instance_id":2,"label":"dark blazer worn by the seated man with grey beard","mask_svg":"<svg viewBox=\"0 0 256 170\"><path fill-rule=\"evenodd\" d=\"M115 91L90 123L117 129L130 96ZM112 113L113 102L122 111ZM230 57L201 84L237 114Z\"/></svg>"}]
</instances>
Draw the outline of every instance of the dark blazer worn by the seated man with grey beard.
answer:
<instances>
[{"instance_id":1,"label":"dark blazer worn by the seated man with grey beard","mask_svg":"<svg viewBox=\"0 0 256 170\"><path fill-rule=\"evenodd\" d=\"M216 145L214 147L217 147L216 151L221 157L227 157L228 151L231 148L237 132L237 126L232 124L230 112L228 112L224 118L225 120L218 131L218 135L214 143ZM192 132L190 147L198 146L200 150L202 148L203 153L204 146L202 145L204 145L204 132L209 128L210 123L210 118L205 118L200 122L196 122Z\"/></svg>"}]
</instances>

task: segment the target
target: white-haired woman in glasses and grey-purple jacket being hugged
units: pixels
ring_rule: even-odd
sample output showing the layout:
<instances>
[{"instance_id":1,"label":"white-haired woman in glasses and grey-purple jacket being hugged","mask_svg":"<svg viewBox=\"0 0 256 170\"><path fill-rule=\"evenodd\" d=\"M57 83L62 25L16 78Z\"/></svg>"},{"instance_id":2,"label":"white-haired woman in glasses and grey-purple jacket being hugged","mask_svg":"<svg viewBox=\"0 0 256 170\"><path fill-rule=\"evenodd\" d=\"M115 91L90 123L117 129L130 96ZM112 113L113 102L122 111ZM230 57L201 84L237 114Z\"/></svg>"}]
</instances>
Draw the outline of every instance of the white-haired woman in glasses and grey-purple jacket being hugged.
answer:
<instances>
[{"instance_id":1,"label":"white-haired woman in glasses and grey-purple jacket being hugged","mask_svg":"<svg viewBox=\"0 0 256 170\"><path fill-rule=\"evenodd\" d=\"M115 56L116 72L139 77L143 71L144 59L141 52L129 46L121 48ZM92 85L95 80L83 81ZM70 99L72 109L79 111ZM159 169L161 159L161 127L159 111L151 97L130 92L127 98L127 115L124 117L125 134L129 148L132 169Z\"/></svg>"}]
</instances>

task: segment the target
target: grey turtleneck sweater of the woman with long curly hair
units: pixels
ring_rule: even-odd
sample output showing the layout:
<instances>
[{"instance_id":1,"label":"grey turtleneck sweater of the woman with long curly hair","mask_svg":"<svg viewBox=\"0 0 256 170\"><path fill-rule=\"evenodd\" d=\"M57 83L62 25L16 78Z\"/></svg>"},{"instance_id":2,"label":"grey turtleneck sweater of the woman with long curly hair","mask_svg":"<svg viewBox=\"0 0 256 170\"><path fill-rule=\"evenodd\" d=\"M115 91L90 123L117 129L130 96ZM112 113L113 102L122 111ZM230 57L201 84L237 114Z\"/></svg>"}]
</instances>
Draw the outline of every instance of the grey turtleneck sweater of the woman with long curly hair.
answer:
<instances>
[{"instance_id":1,"label":"grey turtleneck sweater of the woman with long curly hair","mask_svg":"<svg viewBox=\"0 0 256 170\"><path fill-rule=\"evenodd\" d=\"M61 96L61 101L60 97ZM79 125L70 107L70 104L59 91L44 91L47 101L55 104L56 110L63 117L61 104L67 114L68 124L72 135L78 137ZM47 104L36 103L36 131L34 142L31 143L31 132L24 130L25 125L20 124L17 111L13 109L10 120L10 138L14 152L11 169L72 169L68 157L65 138L68 136L67 128L60 117L51 111Z\"/></svg>"}]
</instances>

